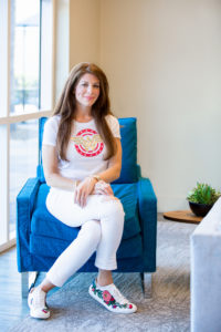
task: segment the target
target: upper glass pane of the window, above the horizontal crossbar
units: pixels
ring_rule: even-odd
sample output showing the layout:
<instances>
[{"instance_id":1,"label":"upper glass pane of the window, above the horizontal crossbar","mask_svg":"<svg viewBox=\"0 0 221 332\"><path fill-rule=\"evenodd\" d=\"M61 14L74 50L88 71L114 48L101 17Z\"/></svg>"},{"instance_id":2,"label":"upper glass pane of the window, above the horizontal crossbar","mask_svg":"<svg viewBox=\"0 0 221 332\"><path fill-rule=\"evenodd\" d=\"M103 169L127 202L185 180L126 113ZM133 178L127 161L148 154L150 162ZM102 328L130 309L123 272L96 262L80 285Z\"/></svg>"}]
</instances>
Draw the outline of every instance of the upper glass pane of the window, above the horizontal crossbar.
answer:
<instances>
[{"instance_id":1,"label":"upper glass pane of the window, above the horizontal crossbar","mask_svg":"<svg viewBox=\"0 0 221 332\"><path fill-rule=\"evenodd\" d=\"M36 112L40 82L40 0L11 1L10 113Z\"/></svg>"}]
</instances>

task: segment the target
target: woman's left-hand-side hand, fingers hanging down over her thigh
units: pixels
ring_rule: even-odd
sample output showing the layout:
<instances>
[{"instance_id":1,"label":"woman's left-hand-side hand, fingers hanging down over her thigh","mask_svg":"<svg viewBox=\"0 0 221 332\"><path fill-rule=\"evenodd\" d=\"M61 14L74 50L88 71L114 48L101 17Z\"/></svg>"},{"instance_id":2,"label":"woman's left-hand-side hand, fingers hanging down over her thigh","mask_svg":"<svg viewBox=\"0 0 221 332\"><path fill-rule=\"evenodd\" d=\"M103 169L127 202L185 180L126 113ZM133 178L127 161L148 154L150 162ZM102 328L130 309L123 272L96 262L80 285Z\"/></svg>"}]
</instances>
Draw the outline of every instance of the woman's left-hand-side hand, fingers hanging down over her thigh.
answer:
<instances>
[{"instance_id":1,"label":"woman's left-hand-side hand, fingers hanging down over her thigh","mask_svg":"<svg viewBox=\"0 0 221 332\"><path fill-rule=\"evenodd\" d=\"M87 196L93 193L96 181L93 177L85 177L74 190L74 203L83 208L86 205Z\"/></svg>"}]
</instances>

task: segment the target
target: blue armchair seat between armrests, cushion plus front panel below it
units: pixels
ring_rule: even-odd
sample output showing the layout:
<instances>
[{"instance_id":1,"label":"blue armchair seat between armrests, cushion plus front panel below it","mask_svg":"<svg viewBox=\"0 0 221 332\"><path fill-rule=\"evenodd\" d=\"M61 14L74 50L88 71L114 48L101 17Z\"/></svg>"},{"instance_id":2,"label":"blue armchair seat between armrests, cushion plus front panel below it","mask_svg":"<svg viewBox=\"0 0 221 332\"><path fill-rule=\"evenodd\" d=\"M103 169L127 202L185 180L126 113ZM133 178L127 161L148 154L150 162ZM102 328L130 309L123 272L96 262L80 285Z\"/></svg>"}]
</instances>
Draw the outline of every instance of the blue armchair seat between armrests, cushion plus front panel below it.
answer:
<instances>
[{"instance_id":1,"label":"blue armchair seat between armrests, cushion plus front panel below it","mask_svg":"<svg viewBox=\"0 0 221 332\"><path fill-rule=\"evenodd\" d=\"M117 184L112 187L114 194L120 198L125 210L123 241L117 257L139 257L143 245L138 220L137 184ZM49 189L46 184L42 184L39 188L31 219L30 251L34 256L57 257L77 237L80 227L66 226L49 212L45 206Z\"/></svg>"}]
</instances>

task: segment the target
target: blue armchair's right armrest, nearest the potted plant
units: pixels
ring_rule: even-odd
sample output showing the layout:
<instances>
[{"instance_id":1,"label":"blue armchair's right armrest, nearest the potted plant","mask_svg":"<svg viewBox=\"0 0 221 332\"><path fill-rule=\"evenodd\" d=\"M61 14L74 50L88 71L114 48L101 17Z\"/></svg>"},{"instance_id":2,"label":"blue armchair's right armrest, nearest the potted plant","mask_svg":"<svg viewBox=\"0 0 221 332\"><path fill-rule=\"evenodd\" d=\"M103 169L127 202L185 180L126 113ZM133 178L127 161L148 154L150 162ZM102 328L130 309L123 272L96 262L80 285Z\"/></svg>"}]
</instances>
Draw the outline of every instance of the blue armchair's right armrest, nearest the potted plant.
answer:
<instances>
[{"instance_id":1,"label":"blue armchair's right armrest, nearest the potted plant","mask_svg":"<svg viewBox=\"0 0 221 332\"><path fill-rule=\"evenodd\" d=\"M138 181L138 208L143 232L145 271L156 271L157 197L148 178Z\"/></svg>"}]
</instances>

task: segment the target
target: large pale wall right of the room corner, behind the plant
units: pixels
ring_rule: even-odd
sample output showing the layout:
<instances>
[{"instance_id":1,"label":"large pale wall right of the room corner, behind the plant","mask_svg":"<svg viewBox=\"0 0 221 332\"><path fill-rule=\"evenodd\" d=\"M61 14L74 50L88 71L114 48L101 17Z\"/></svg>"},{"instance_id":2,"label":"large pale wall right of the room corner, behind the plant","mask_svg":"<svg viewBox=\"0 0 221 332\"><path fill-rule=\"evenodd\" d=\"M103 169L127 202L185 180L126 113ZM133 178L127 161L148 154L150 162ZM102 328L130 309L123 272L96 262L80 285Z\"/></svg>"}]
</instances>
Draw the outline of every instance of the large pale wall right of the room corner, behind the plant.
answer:
<instances>
[{"instance_id":1,"label":"large pale wall right of the room corner, behind the plant","mask_svg":"<svg viewBox=\"0 0 221 332\"><path fill-rule=\"evenodd\" d=\"M102 0L99 63L113 111L138 118L160 211L197 180L221 188L221 1Z\"/></svg>"}]
</instances>

